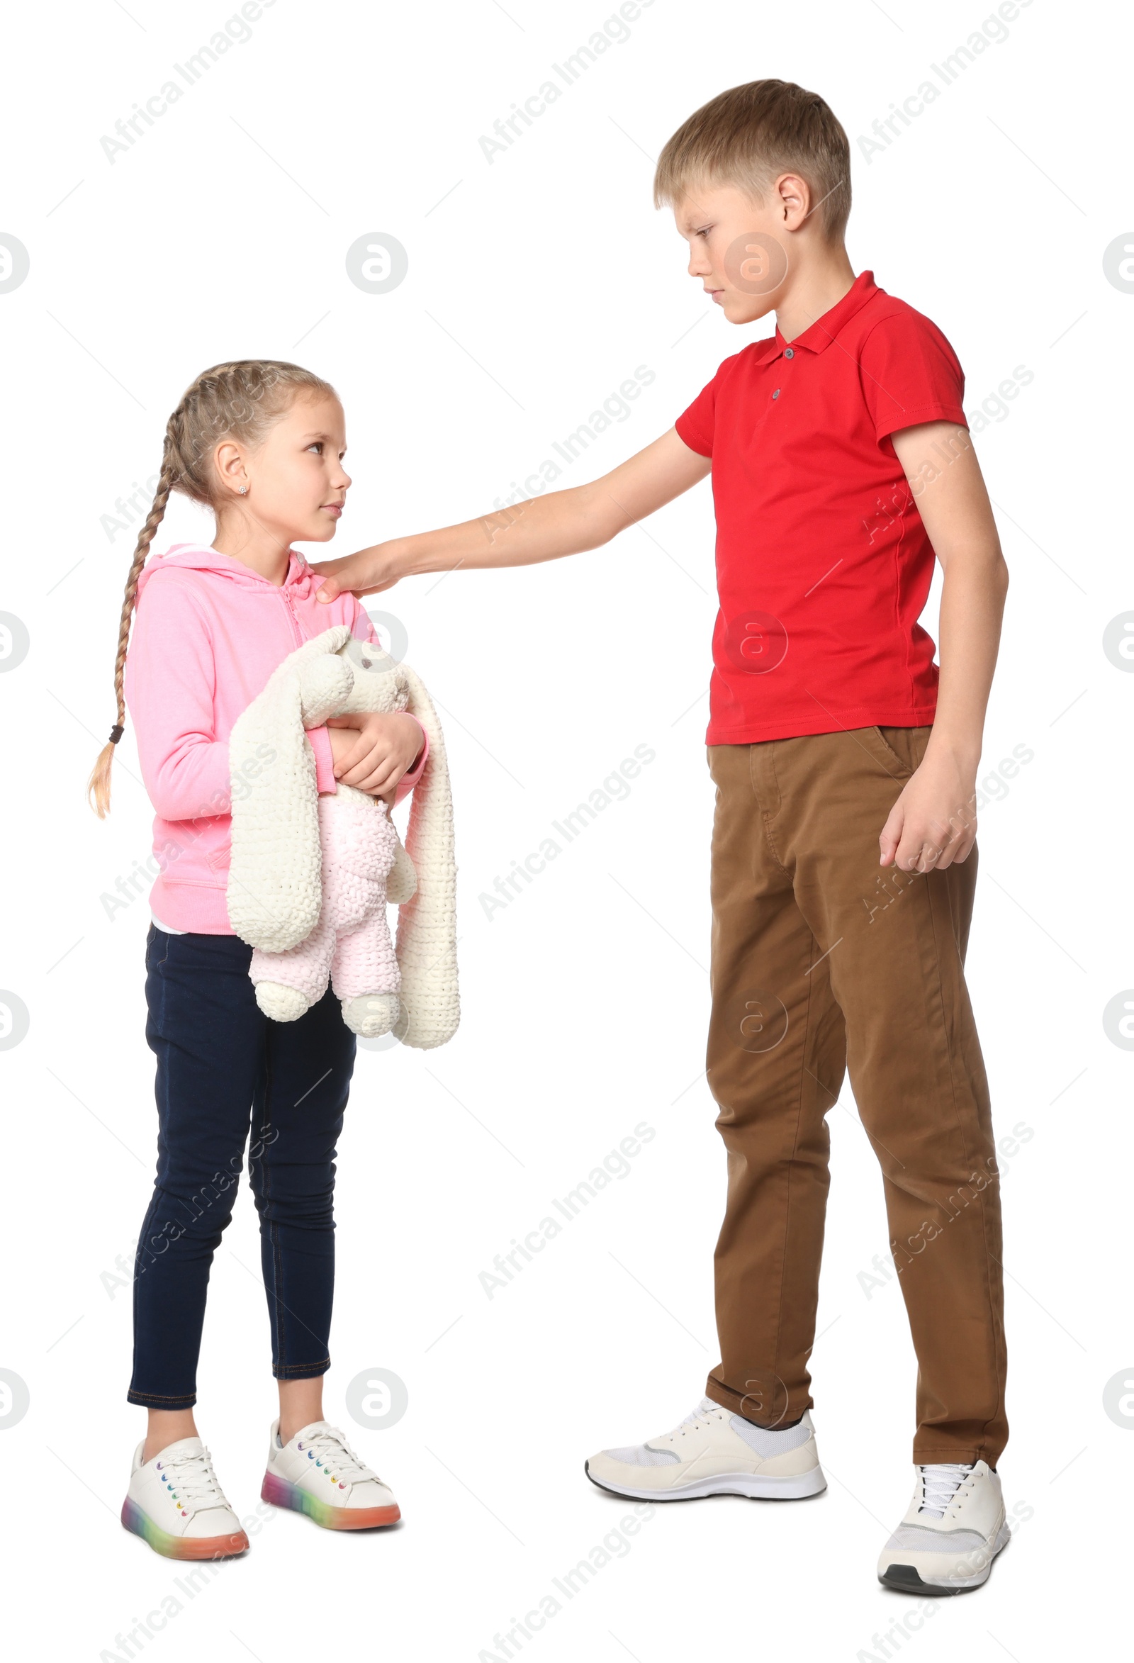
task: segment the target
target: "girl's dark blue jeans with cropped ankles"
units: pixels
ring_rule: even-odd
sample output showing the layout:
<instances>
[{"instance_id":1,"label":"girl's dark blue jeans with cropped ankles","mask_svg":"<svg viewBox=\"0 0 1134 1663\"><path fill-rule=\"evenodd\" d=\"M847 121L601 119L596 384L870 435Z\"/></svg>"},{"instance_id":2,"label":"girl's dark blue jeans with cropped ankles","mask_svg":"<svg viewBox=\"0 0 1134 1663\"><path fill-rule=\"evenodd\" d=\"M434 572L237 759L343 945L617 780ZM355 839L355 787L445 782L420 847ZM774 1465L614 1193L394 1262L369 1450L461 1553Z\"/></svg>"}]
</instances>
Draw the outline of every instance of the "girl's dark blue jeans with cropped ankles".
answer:
<instances>
[{"instance_id":1,"label":"girl's dark blue jeans with cropped ankles","mask_svg":"<svg viewBox=\"0 0 1134 1663\"><path fill-rule=\"evenodd\" d=\"M135 1362L126 1394L150 1409L196 1402L210 1266L248 1149L273 1374L324 1374L334 1294L334 1142L354 1034L326 996L273 1023L238 936L146 938L146 1039L158 1059L158 1174L135 1262Z\"/></svg>"}]
</instances>

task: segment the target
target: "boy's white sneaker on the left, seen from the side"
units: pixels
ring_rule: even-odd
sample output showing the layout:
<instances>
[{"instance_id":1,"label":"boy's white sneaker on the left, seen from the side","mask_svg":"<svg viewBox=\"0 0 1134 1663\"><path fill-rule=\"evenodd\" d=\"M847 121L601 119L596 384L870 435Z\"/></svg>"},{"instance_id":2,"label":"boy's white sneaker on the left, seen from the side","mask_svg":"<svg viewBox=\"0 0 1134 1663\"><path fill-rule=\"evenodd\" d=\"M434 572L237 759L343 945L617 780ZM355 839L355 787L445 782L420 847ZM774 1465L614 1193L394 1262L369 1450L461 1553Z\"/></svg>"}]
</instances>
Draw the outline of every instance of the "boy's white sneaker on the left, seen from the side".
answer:
<instances>
[{"instance_id":1,"label":"boy's white sneaker on the left, seen from the side","mask_svg":"<svg viewBox=\"0 0 1134 1663\"><path fill-rule=\"evenodd\" d=\"M705 1397L672 1432L632 1448L602 1450L585 1465L602 1490L640 1502L700 1495L798 1500L826 1488L811 1415L783 1432L753 1425Z\"/></svg>"}]
</instances>

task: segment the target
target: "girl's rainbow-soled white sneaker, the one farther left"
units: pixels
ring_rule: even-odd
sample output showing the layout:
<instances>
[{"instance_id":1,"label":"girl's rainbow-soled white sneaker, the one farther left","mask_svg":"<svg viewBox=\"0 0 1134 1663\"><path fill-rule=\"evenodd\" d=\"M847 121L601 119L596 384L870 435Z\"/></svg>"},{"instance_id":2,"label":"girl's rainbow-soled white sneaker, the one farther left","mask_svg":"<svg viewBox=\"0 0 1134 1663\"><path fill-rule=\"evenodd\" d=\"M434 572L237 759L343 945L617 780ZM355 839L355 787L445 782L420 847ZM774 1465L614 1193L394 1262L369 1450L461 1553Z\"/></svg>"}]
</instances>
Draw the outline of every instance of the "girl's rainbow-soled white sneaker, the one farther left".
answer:
<instances>
[{"instance_id":1,"label":"girl's rainbow-soled white sneaker, the one farther left","mask_svg":"<svg viewBox=\"0 0 1134 1663\"><path fill-rule=\"evenodd\" d=\"M216 1482L213 1458L200 1438L178 1438L143 1462L135 1450L130 1488L121 1503L126 1530L166 1558L233 1558L248 1537Z\"/></svg>"}]
</instances>

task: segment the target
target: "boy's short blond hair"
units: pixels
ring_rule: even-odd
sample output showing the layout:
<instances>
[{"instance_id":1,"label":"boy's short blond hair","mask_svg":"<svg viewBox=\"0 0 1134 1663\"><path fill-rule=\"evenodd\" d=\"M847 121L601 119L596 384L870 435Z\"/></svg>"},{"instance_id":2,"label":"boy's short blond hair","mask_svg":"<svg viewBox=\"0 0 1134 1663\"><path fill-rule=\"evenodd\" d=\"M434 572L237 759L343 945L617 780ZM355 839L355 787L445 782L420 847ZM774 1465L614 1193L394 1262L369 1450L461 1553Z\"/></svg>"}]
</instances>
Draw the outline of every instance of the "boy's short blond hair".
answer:
<instances>
[{"instance_id":1,"label":"boy's short blond hair","mask_svg":"<svg viewBox=\"0 0 1134 1663\"><path fill-rule=\"evenodd\" d=\"M653 206L677 205L698 185L738 185L760 200L780 173L806 180L810 213L830 243L841 239L851 201L841 123L795 81L748 81L710 98L667 140Z\"/></svg>"}]
</instances>

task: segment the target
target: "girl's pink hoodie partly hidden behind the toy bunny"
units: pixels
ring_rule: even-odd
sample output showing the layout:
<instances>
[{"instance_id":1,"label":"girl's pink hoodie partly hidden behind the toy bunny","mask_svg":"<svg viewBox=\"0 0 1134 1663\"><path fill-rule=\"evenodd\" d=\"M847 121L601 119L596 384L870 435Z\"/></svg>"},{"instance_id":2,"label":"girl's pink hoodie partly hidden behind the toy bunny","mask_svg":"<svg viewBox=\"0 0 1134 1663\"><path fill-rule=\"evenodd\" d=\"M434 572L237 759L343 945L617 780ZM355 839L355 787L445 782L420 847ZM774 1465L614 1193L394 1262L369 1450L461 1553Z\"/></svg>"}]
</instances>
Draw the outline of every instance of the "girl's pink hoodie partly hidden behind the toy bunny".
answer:
<instances>
[{"instance_id":1,"label":"girl's pink hoodie partly hidden behind the toy bunny","mask_svg":"<svg viewBox=\"0 0 1134 1663\"><path fill-rule=\"evenodd\" d=\"M276 587L228 554L180 542L138 579L126 654L126 703L141 778L156 810L150 906L171 930L234 935L224 890L229 861L228 735L288 654L348 624L377 642L354 595L316 600L319 575L291 550ZM309 728L321 792L334 792L326 727ZM424 735L422 735L424 737ZM427 745L397 787L414 788Z\"/></svg>"}]
</instances>

